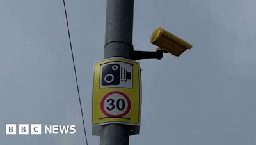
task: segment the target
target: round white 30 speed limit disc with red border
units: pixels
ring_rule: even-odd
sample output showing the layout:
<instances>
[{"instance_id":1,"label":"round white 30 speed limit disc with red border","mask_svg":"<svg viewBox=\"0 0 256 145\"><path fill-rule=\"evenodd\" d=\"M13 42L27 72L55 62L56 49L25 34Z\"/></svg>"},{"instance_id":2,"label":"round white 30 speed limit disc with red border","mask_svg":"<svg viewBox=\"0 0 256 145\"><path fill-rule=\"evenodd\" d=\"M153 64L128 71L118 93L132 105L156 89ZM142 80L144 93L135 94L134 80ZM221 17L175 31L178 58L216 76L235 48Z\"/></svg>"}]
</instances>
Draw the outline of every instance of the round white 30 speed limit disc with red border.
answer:
<instances>
[{"instance_id":1,"label":"round white 30 speed limit disc with red border","mask_svg":"<svg viewBox=\"0 0 256 145\"><path fill-rule=\"evenodd\" d=\"M131 111L131 99L124 92L109 92L100 101L100 109L106 118L124 118Z\"/></svg>"}]
</instances>

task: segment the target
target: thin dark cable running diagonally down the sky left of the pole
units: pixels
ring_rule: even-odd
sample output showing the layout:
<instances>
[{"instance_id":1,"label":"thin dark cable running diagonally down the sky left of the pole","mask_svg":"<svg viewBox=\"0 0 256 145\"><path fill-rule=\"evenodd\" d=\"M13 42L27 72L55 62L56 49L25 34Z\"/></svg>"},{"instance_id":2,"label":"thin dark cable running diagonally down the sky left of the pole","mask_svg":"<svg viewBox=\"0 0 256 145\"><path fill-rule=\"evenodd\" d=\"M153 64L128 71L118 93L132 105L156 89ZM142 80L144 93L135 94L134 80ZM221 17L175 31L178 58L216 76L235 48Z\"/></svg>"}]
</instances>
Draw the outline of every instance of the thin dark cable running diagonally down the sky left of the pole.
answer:
<instances>
[{"instance_id":1,"label":"thin dark cable running diagonally down the sky left of the pole","mask_svg":"<svg viewBox=\"0 0 256 145\"><path fill-rule=\"evenodd\" d=\"M68 17L67 17L67 10L66 10L66 5L65 5L65 0L63 0L63 6L64 6L64 10L65 10L65 17L66 17L67 28L68 28L68 38L69 38L70 50L71 50L72 61L73 61L73 66L74 66L74 73L75 73L75 77L76 77L77 94L78 94L78 98L79 98L81 115L82 115L82 119L83 119L84 136L85 136L86 144L88 145L87 135L86 135L86 130L85 130L85 123L84 123L83 109L82 109L82 104L81 104L81 97L80 97L80 92L79 92L79 85L78 85L78 81L77 81L76 65L75 65L73 48L72 48L72 43L71 43L71 38L70 38L70 31L69 31L69 25L68 25Z\"/></svg>"}]
</instances>

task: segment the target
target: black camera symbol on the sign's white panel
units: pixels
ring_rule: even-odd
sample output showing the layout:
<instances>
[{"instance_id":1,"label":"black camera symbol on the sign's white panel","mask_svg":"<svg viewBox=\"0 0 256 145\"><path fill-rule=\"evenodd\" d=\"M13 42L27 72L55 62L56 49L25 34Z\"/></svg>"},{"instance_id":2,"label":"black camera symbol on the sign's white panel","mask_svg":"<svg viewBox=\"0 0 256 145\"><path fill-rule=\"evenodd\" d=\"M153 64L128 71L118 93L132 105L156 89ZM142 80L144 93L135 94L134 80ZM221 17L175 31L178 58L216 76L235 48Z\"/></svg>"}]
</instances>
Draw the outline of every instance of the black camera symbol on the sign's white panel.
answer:
<instances>
[{"instance_id":1,"label":"black camera symbol on the sign's white panel","mask_svg":"<svg viewBox=\"0 0 256 145\"><path fill-rule=\"evenodd\" d=\"M121 81L131 80L131 72L120 64L106 64L102 67L101 85L120 85Z\"/></svg>"}]
</instances>

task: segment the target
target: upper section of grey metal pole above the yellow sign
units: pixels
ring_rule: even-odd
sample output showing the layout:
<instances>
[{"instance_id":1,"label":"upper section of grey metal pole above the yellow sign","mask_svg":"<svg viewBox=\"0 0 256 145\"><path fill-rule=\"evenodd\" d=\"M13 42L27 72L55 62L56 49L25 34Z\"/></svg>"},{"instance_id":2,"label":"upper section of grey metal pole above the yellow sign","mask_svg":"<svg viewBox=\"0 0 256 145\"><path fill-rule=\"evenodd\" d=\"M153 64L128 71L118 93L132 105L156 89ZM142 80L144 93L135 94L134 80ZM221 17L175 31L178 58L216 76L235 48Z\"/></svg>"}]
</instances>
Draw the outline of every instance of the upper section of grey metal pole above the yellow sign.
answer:
<instances>
[{"instance_id":1,"label":"upper section of grey metal pole above the yellow sign","mask_svg":"<svg viewBox=\"0 0 256 145\"><path fill-rule=\"evenodd\" d=\"M108 0L104 58L131 59L134 0Z\"/></svg>"}]
</instances>

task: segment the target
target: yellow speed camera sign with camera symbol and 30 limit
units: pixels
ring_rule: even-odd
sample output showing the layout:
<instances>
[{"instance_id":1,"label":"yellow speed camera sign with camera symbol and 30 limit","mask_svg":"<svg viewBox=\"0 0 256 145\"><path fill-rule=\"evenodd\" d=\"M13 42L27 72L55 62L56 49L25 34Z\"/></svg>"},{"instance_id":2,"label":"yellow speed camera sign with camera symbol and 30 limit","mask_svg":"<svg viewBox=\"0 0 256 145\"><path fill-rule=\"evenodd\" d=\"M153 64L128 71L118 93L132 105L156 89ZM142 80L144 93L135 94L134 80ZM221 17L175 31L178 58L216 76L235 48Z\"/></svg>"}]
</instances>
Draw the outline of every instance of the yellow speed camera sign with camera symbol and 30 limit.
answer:
<instances>
[{"instance_id":1,"label":"yellow speed camera sign with camera symbol and 30 limit","mask_svg":"<svg viewBox=\"0 0 256 145\"><path fill-rule=\"evenodd\" d=\"M140 126L139 63L120 57L95 62L92 106L93 127L110 123Z\"/></svg>"}]
</instances>

